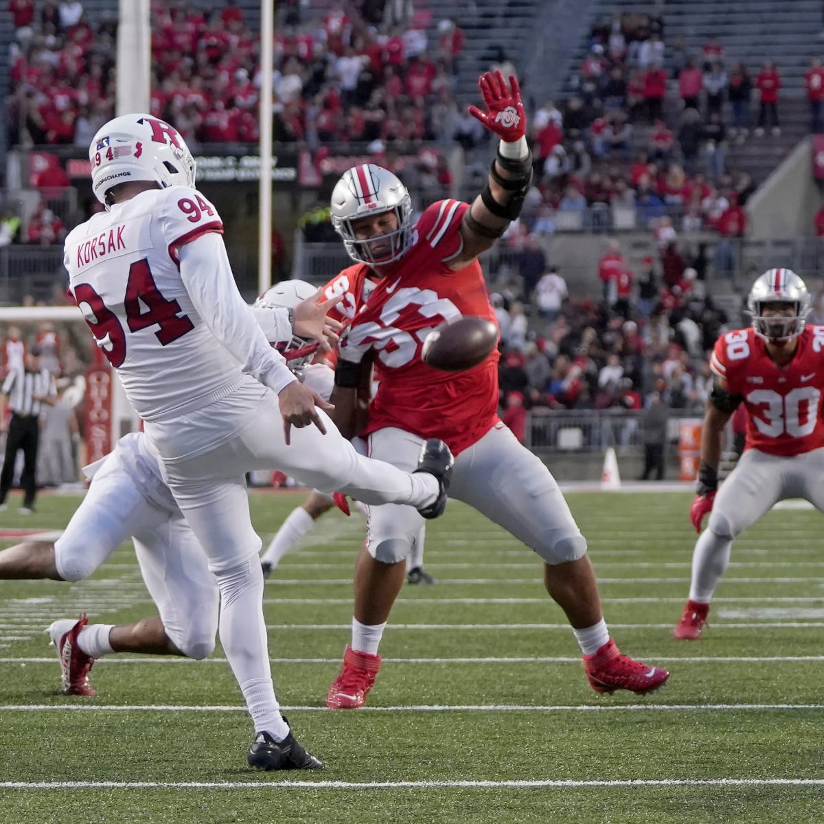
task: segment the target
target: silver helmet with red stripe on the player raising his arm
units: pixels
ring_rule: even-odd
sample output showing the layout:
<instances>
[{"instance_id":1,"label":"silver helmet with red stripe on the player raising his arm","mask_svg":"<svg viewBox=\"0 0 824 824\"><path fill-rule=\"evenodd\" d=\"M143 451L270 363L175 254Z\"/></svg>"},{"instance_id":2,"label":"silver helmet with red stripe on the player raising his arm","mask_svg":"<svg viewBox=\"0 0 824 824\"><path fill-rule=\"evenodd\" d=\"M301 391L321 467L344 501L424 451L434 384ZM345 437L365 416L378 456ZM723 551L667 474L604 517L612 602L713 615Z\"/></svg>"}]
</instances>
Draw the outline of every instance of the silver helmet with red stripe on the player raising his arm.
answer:
<instances>
[{"instance_id":1,"label":"silver helmet with red stripe on the player raising his arm","mask_svg":"<svg viewBox=\"0 0 824 824\"><path fill-rule=\"evenodd\" d=\"M353 232L352 222L368 215L394 212L398 218L395 232L359 241ZM332 226L344 239L344 246L352 260L372 266L394 263L409 248L412 240L412 199L400 179L382 166L364 163L353 166L332 190ZM376 255L374 246L391 242L391 250Z\"/></svg>"}]
</instances>

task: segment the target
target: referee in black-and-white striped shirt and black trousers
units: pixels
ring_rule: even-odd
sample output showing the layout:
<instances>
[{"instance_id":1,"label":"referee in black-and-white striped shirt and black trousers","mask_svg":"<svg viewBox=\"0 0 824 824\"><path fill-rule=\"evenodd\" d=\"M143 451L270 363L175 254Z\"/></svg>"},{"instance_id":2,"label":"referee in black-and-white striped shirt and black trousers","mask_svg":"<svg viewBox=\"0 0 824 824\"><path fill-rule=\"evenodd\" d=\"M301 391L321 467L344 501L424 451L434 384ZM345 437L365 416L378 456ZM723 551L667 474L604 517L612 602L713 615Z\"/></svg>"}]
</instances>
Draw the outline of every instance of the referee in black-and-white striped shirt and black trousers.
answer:
<instances>
[{"instance_id":1,"label":"referee in black-and-white striped shirt and black trousers","mask_svg":"<svg viewBox=\"0 0 824 824\"><path fill-rule=\"evenodd\" d=\"M40 363L40 348L33 346L23 356L25 368L12 368L0 389L0 432L7 431L6 455L0 472L0 512L6 508L6 496L12 488L14 462L23 451L23 487L21 515L30 515L35 506L37 485L37 445L40 441L40 411L44 404L57 400L54 376ZM6 423L6 409L12 413Z\"/></svg>"}]
</instances>

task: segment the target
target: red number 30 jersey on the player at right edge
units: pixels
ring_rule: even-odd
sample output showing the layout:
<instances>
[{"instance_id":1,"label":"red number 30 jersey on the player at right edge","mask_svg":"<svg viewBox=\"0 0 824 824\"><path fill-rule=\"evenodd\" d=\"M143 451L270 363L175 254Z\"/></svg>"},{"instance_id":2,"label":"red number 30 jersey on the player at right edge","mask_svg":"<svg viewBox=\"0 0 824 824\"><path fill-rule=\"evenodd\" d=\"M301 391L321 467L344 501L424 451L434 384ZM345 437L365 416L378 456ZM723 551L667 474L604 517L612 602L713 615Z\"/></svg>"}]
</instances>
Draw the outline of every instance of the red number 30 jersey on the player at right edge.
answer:
<instances>
[{"instance_id":1,"label":"red number 30 jersey on the player at right edge","mask_svg":"<svg viewBox=\"0 0 824 824\"><path fill-rule=\"evenodd\" d=\"M824 326L807 326L784 367L770 359L754 329L715 342L709 365L747 407L747 448L793 456L824 447Z\"/></svg>"}]
</instances>

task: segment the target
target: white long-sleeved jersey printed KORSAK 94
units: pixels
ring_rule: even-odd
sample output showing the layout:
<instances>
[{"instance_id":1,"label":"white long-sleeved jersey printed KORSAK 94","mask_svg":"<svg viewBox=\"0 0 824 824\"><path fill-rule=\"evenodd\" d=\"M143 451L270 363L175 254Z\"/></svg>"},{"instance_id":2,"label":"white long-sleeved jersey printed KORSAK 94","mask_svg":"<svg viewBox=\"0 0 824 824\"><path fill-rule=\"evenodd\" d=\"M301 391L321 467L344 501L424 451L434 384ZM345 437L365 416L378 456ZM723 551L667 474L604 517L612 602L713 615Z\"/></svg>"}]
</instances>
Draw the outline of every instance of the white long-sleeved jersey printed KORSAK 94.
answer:
<instances>
[{"instance_id":1,"label":"white long-sleeved jersey printed KORSAK 94","mask_svg":"<svg viewBox=\"0 0 824 824\"><path fill-rule=\"evenodd\" d=\"M69 289L146 420L229 394L241 379L238 360L255 374L267 358L279 358L250 321L222 244L202 278L181 279L182 248L222 232L203 195L171 186L115 204L66 238Z\"/></svg>"}]
</instances>

